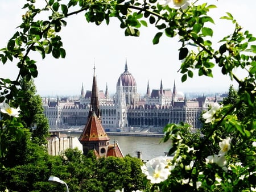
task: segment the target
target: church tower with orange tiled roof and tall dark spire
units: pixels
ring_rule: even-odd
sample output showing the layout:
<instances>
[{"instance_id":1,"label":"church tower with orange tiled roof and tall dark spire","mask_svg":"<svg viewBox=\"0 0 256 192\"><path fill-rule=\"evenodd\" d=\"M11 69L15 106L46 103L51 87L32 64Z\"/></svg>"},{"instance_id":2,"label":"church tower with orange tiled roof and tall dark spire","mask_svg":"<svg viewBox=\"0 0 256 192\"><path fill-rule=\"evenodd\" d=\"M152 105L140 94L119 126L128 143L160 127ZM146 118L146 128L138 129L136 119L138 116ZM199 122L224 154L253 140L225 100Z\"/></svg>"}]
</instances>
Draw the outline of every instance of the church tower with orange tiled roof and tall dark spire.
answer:
<instances>
[{"instance_id":1,"label":"church tower with orange tiled roof and tall dark spire","mask_svg":"<svg viewBox=\"0 0 256 192\"><path fill-rule=\"evenodd\" d=\"M86 155L90 150L94 150L97 157L106 157L108 154L109 137L101 124L100 105L98 101L98 89L95 76L95 66L93 74L92 97L90 101L90 111L88 121L79 137L82 150Z\"/></svg>"}]
</instances>

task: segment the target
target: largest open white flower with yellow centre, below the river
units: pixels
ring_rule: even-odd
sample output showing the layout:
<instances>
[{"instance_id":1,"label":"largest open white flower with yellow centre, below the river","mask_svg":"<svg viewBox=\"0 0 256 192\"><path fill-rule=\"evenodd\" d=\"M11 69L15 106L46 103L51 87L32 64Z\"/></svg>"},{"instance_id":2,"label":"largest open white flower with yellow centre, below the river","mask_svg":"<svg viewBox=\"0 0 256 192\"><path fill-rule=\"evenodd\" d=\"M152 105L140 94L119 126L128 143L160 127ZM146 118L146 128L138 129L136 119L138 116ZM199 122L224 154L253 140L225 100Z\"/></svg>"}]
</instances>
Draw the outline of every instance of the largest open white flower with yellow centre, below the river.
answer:
<instances>
[{"instance_id":1,"label":"largest open white flower with yellow centre, below the river","mask_svg":"<svg viewBox=\"0 0 256 192\"><path fill-rule=\"evenodd\" d=\"M151 183L160 183L165 181L171 174L168 169L168 162L164 157L152 158L146 162L146 165L141 166L141 170Z\"/></svg>"}]
</instances>

